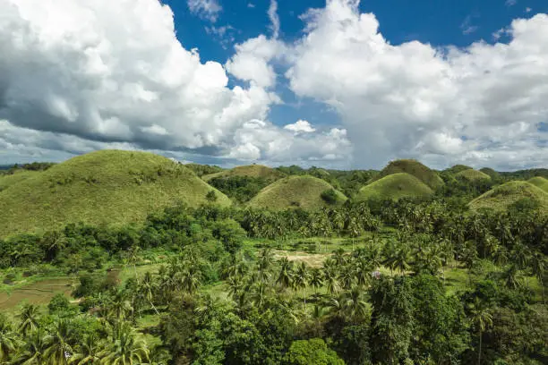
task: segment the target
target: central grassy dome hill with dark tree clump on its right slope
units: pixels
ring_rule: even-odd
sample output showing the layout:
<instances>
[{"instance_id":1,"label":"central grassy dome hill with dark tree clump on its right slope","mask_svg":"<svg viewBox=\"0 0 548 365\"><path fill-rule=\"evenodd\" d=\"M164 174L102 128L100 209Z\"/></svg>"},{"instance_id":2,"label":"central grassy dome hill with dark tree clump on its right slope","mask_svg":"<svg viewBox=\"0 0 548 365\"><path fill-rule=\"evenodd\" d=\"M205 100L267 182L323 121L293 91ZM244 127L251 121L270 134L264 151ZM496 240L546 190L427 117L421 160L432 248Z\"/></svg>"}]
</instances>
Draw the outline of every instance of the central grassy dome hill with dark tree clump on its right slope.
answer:
<instances>
[{"instance_id":1,"label":"central grassy dome hill with dark tree clump on its right slope","mask_svg":"<svg viewBox=\"0 0 548 365\"><path fill-rule=\"evenodd\" d=\"M330 183L317 177L310 175L289 176L262 189L249 201L248 206L274 210L286 208L313 210L328 207L329 204L321 198L321 193L330 189L333 189ZM340 205L347 200L347 197L340 191L336 191L336 196L335 205Z\"/></svg>"}]
</instances>

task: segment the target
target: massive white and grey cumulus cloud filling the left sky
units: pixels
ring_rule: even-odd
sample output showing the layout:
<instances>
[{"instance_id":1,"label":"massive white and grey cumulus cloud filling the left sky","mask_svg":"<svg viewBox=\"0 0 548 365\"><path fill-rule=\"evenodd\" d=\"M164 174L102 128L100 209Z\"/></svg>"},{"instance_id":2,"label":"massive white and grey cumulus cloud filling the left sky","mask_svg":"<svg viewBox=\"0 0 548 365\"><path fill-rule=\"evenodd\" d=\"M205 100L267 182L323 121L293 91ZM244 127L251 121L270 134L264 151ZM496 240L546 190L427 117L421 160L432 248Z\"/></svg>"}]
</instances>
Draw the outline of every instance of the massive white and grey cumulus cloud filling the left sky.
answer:
<instances>
[{"instance_id":1,"label":"massive white and grey cumulus cloud filling the left sky","mask_svg":"<svg viewBox=\"0 0 548 365\"><path fill-rule=\"evenodd\" d=\"M268 67L248 87L227 87L223 65L184 49L173 13L157 0L1 0L0 13L0 120L9 121L11 135L31 136L17 141L5 130L5 145L222 157L240 148L247 123L268 120L280 102L265 89L275 80ZM278 51L262 43L246 42L242 51L270 60ZM269 125L276 141L281 129ZM267 134L261 139L268 148Z\"/></svg>"}]
</instances>

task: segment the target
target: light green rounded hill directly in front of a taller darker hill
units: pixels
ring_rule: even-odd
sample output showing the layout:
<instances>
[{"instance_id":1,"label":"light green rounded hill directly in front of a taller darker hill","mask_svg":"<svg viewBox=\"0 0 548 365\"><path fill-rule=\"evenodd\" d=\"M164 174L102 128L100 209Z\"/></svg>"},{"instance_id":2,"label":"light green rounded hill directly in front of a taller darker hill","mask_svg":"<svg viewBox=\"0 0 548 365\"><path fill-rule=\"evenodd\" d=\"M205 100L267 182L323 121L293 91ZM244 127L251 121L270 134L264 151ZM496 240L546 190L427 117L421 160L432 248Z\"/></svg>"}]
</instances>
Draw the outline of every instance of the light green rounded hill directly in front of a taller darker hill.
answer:
<instances>
[{"instance_id":1,"label":"light green rounded hill directly in front of a taller darker hill","mask_svg":"<svg viewBox=\"0 0 548 365\"><path fill-rule=\"evenodd\" d=\"M406 173L390 174L381 180L365 185L355 196L355 200L427 198L433 191L415 176Z\"/></svg>"}]
</instances>

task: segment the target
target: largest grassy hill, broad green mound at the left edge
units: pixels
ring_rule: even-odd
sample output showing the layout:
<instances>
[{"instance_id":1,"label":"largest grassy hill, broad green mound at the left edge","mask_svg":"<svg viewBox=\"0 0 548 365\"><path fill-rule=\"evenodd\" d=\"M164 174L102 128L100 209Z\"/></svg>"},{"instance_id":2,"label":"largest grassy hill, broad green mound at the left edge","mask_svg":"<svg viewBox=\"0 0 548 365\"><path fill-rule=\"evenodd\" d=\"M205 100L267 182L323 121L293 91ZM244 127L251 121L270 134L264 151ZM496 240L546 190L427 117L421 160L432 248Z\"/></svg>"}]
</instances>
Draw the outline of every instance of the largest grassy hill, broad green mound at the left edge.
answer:
<instances>
[{"instance_id":1,"label":"largest grassy hill, broad green mound at the left edge","mask_svg":"<svg viewBox=\"0 0 548 365\"><path fill-rule=\"evenodd\" d=\"M70 222L124 224L174 204L207 201L214 190L192 171L146 152L102 150L73 157L0 192L0 236ZM217 203L230 200L216 191Z\"/></svg>"}]
</instances>

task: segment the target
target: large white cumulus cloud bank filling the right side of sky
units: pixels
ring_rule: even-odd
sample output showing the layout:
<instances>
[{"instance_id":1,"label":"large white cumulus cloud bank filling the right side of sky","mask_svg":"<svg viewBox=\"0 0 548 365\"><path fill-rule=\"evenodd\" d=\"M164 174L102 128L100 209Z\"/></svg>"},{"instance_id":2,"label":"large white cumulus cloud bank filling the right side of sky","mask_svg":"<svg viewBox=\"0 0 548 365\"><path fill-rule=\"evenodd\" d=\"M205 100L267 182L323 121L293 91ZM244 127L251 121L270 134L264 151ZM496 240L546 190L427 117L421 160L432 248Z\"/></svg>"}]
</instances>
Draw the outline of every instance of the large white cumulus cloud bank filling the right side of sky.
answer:
<instances>
[{"instance_id":1,"label":"large white cumulus cloud bank filling the right side of sky","mask_svg":"<svg viewBox=\"0 0 548 365\"><path fill-rule=\"evenodd\" d=\"M338 111L355 164L382 166L425 154L456 160L472 152L498 164L508 156L494 152L501 145L527 139L529 149L542 149L546 133L537 129L548 117L547 15L513 21L508 44L434 48L417 41L391 45L358 3L330 0L306 13L307 33L295 44L286 74L295 94Z\"/></svg>"}]
</instances>

